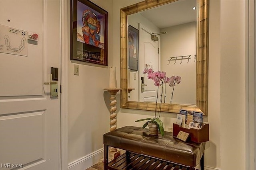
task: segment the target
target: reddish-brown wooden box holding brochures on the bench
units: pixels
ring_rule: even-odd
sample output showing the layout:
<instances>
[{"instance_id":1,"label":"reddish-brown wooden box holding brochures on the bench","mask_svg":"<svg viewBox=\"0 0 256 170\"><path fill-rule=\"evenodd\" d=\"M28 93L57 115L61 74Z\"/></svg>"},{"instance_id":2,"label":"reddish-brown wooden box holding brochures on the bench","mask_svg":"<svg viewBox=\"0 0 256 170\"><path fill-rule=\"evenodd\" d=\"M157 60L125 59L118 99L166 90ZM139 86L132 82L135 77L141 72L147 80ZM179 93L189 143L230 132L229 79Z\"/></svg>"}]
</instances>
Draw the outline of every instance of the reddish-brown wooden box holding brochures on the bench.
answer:
<instances>
[{"instance_id":1,"label":"reddish-brown wooden box holding brochures on the bench","mask_svg":"<svg viewBox=\"0 0 256 170\"><path fill-rule=\"evenodd\" d=\"M189 133L188 140L195 143L202 143L209 141L209 123L204 123L201 129L187 129L185 127L180 127L180 125L173 123L173 136L177 137L180 131Z\"/></svg>"}]
</instances>

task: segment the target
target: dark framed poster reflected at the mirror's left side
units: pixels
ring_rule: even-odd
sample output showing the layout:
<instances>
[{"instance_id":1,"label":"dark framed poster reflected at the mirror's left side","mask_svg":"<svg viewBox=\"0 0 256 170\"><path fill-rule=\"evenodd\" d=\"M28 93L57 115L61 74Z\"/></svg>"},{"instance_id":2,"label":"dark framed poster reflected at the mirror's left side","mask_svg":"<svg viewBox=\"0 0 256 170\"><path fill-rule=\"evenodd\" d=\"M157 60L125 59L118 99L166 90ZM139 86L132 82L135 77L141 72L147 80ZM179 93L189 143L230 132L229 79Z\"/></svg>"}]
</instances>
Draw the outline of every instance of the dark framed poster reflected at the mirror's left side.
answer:
<instances>
[{"instance_id":1,"label":"dark framed poster reflected at the mirror's left side","mask_svg":"<svg viewBox=\"0 0 256 170\"><path fill-rule=\"evenodd\" d=\"M138 70L138 39L139 39L139 30L128 26L128 42L127 42L127 51L128 51L128 69Z\"/></svg>"}]
</instances>

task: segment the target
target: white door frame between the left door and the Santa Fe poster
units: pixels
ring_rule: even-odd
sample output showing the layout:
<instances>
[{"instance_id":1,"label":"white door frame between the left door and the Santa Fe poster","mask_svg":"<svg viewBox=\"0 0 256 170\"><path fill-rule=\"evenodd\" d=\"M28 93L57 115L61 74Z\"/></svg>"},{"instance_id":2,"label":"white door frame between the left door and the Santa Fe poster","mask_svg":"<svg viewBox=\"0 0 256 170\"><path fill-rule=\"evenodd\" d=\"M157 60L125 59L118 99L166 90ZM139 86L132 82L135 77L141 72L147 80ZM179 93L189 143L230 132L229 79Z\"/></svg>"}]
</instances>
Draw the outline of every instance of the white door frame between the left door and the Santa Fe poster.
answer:
<instances>
[{"instance_id":1,"label":"white door frame between the left door and the Santa Fe poster","mask_svg":"<svg viewBox=\"0 0 256 170\"><path fill-rule=\"evenodd\" d=\"M68 35L69 0L60 0L60 170L68 169Z\"/></svg>"}]
</instances>

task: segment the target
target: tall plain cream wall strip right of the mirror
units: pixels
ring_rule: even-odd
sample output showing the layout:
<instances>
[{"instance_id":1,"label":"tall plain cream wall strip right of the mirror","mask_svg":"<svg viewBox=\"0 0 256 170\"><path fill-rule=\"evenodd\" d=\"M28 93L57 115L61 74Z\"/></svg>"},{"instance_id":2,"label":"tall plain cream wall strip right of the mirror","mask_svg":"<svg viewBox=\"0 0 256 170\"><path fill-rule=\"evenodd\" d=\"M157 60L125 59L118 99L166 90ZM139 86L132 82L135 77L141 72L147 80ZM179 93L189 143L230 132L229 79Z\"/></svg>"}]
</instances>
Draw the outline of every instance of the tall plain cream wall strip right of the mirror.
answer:
<instances>
[{"instance_id":1,"label":"tall plain cream wall strip right of the mirror","mask_svg":"<svg viewBox=\"0 0 256 170\"><path fill-rule=\"evenodd\" d=\"M245 0L221 0L220 7L221 168L242 170L246 157Z\"/></svg>"}]
</instances>

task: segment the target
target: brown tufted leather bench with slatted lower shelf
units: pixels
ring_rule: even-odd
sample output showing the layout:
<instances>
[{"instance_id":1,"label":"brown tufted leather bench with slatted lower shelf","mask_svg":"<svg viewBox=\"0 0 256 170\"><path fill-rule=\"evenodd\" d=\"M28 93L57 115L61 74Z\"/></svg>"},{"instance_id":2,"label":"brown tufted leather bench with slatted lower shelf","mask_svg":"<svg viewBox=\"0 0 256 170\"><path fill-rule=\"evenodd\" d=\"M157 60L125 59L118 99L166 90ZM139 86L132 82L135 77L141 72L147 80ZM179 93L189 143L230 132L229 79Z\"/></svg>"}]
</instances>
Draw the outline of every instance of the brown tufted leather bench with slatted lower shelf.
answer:
<instances>
[{"instance_id":1,"label":"brown tufted leather bench with slatted lower shelf","mask_svg":"<svg viewBox=\"0 0 256 170\"><path fill-rule=\"evenodd\" d=\"M201 170L204 170L205 143L198 144L191 141L185 143L173 137L169 132L165 132L163 137L160 134L152 136L149 135L148 129L126 126L104 134L103 143L104 170L122 169L108 166L108 147L126 150L127 161L130 160L128 158L130 153L134 153L184 165L190 170L195 170L200 162Z\"/></svg>"}]
</instances>

